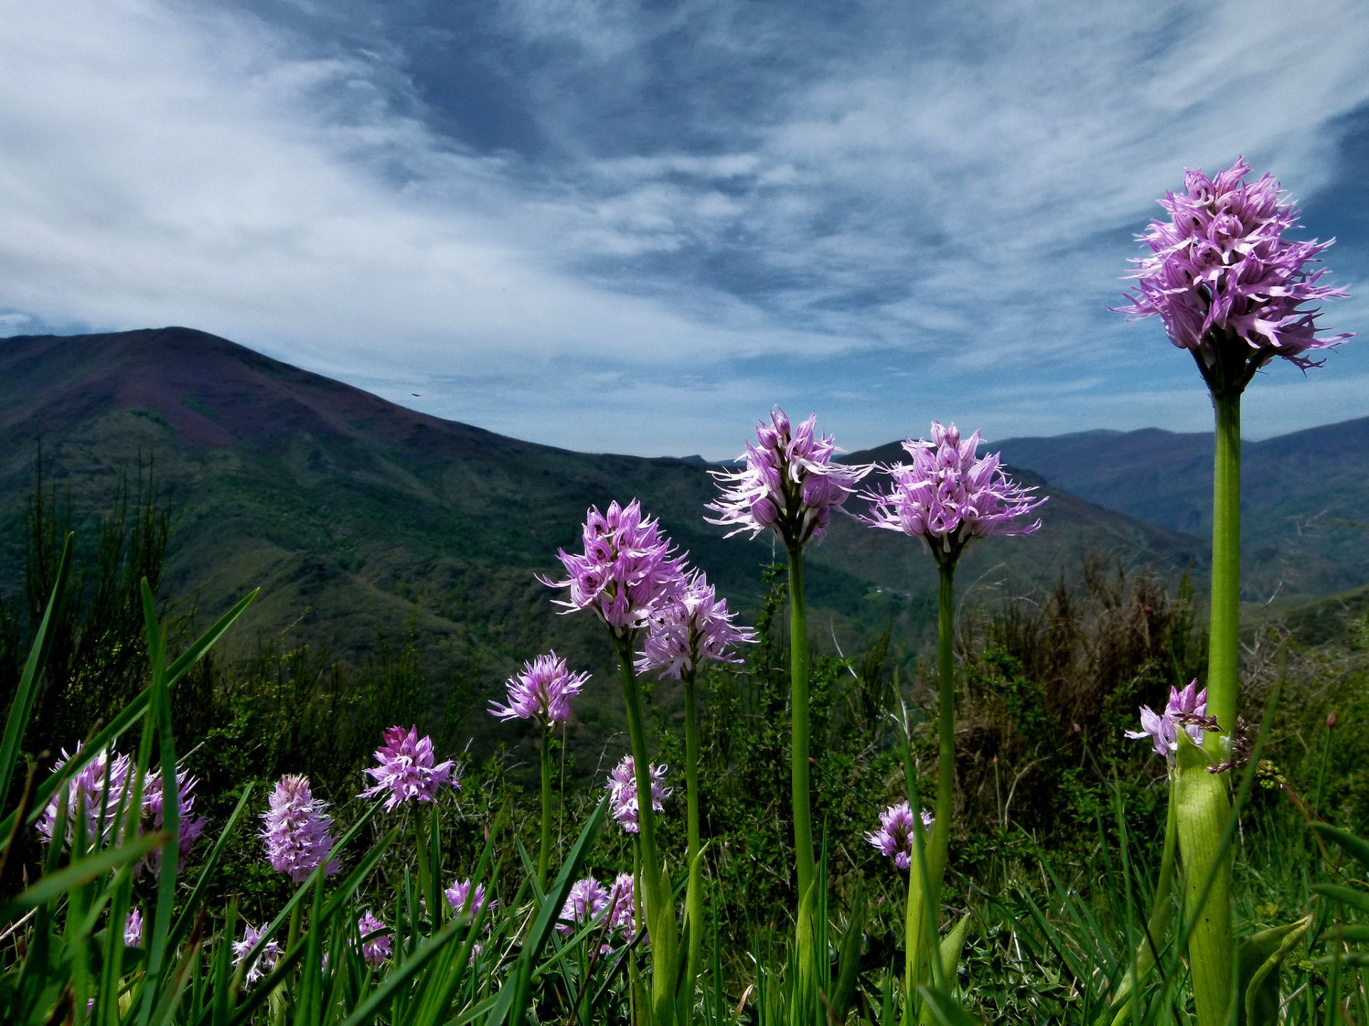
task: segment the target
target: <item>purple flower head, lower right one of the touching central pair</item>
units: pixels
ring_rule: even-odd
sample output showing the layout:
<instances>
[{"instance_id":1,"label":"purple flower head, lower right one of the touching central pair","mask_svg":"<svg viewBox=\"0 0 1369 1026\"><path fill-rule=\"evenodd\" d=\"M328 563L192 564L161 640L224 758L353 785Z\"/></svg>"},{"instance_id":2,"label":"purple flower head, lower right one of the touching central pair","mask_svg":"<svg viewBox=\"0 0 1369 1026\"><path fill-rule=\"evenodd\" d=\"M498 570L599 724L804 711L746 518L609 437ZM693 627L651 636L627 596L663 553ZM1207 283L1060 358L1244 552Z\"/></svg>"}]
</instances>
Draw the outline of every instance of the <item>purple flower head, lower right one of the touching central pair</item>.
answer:
<instances>
[{"instance_id":1,"label":"purple flower head, lower right one of the touching central pair","mask_svg":"<svg viewBox=\"0 0 1369 1026\"><path fill-rule=\"evenodd\" d=\"M684 587L652 613L637 669L679 677L680 672L697 669L704 659L741 662L731 650L737 644L754 643L756 632L735 627L734 616L727 610L727 599L715 595L708 579L698 570L691 572Z\"/></svg>"}]
</instances>

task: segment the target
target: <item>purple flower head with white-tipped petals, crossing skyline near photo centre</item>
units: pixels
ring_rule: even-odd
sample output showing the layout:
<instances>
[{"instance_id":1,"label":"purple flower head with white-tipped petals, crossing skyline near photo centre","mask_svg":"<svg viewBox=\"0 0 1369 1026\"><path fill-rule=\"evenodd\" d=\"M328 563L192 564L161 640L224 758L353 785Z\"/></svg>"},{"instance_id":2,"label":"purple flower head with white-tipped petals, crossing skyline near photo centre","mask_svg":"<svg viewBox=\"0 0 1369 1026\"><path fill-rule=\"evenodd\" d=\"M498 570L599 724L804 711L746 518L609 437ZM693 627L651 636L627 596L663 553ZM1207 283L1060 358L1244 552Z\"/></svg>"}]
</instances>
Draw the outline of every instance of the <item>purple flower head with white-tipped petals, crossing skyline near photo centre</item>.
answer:
<instances>
[{"instance_id":1,"label":"purple flower head with white-tipped petals, crossing skyline near photo centre","mask_svg":"<svg viewBox=\"0 0 1369 1026\"><path fill-rule=\"evenodd\" d=\"M756 428L756 445L747 443L738 457L746 461L746 469L711 471L723 494L705 506L717 518L705 520L732 527L728 538L741 531L756 538L772 529L786 546L821 540L832 510L846 502L856 482L871 471L832 462L836 451L831 435L817 434L816 413L790 430L789 417L776 406L769 423Z\"/></svg>"}]
</instances>

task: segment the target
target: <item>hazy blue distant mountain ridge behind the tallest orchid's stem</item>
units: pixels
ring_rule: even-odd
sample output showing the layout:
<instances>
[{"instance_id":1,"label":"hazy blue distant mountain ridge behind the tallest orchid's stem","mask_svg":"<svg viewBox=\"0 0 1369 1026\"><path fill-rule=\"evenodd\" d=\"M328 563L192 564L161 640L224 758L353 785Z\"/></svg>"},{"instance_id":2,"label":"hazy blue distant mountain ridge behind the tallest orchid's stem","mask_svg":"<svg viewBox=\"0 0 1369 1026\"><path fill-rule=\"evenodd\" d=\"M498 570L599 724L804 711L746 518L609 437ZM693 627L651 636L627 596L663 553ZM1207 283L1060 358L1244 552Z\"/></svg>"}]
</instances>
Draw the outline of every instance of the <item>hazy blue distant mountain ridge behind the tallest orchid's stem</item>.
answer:
<instances>
[{"instance_id":1,"label":"hazy blue distant mountain ridge behind the tallest orchid's stem","mask_svg":"<svg viewBox=\"0 0 1369 1026\"><path fill-rule=\"evenodd\" d=\"M1086 431L987 446L1051 484L1157 527L1212 532L1212 434ZM1242 445L1246 596L1369 581L1369 417Z\"/></svg>"}]
</instances>

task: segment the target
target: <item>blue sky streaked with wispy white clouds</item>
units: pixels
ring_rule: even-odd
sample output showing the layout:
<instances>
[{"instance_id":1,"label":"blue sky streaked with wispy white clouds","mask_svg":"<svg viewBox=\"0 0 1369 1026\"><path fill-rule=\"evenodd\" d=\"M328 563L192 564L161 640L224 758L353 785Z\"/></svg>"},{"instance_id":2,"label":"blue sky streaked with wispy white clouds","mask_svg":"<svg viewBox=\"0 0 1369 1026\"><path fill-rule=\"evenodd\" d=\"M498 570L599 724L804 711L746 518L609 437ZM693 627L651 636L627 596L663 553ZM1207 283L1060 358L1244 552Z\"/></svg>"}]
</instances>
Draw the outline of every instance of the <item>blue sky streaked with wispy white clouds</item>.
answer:
<instances>
[{"instance_id":1,"label":"blue sky streaked with wispy white clouds","mask_svg":"<svg viewBox=\"0 0 1369 1026\"><path fill-rule=\"evenodd\" d=\"M1306 10L1307 14L1299 14ZM1203 431L1110 313L1184 167L1336 237L1250 438L1369 415L1362 3L0 0L0 335L182 324L426 413L737 456ZM415 395L418 393L418 395Z\"/></svg>"}]
</instances>

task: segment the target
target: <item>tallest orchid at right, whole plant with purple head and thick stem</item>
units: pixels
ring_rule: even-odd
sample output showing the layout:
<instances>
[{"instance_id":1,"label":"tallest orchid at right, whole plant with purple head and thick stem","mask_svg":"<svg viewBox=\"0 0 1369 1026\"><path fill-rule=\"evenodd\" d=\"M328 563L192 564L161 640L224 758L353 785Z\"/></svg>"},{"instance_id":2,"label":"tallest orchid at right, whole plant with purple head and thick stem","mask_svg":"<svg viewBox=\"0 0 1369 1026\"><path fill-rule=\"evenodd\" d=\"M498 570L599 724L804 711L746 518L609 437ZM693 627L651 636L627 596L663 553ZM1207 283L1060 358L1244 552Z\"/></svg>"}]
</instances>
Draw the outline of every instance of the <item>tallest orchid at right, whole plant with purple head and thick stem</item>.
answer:
<instances>
[{"instance_id":1,"label":"tallest orchid at right, whole plant with purple head and thick stem","mask_svg":"<svg viewBox=\"0 0 1369 1026\"><path fill-rule=\"evenodd\" d=\"M1150 254L1139 259L1134 293L1116 308L1132 320L1160 317L1169 341L1192 353L1212 393L1216 415L1212 509L1212 614L1207 644L1209 731L1203 748L1210 763L1229 761L1236 731L1240 674L1240 395L1255 372L1275 357L1307 371L1322 361L1309 353L1342 345L1348 334L1325 335L1317 317L1324 300L1343 289L1321 285L1316 267L1332 241L1298 241L1298 211L1283 202L1277 179L1246 182L1250 164L1239 157L1209 178L1187 170L1184 187L1160 200L1168 220L1153 220L1143 235ZM1197 763L1194 770L1206 769ZM1227 1022L1236 955L1232 932L1229 851L1231 798L1227 784L1205 772L1184 772L1180 754L1176 819L1184 863L1188 940L1198 1026ZM1209 881L1202 886L1197 881ZM1201 907L1199 907L1201 906Z\"/></svg>"}]
</instances>

